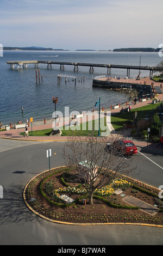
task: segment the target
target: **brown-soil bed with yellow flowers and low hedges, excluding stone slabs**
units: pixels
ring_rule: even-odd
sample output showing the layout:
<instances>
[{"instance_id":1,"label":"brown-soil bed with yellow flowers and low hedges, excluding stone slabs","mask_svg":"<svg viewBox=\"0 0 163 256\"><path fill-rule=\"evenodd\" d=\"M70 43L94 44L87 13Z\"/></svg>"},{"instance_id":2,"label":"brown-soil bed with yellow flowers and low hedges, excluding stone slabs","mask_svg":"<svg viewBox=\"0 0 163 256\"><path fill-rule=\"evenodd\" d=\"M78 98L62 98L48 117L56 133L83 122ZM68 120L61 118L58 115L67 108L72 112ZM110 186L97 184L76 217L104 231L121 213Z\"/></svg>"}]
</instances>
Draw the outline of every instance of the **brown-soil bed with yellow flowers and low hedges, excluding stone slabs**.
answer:
<instances>
[{"instance_id":1,"label":"brown-soil bed with yellow flowers and low hedges, excluding stone slabs","mask_svg":"<svg viewBox=\"0 0 163 256\"><path fill-rule=\"evenodd\" d=\"M123 177L123 179L112 182L111 186L96 190L93 205L89 205L86 188L73 187L74 184L62 182L62 174L66 171L66 167L55 168L50 174L45 172L36 176L26 186L24 189L25 202L28 207L35 210L36 214L47 217L52 221L71 223L130 222L163 224L161 211L155 216L145 214L139 208L124 203L123 197L114 193L119 187L126 195L134 196L153 205L155 197L159 193L156 188ZM50 182L53 193L47 193L45 190L45 185L50 184ZM58 201L58 197L63 193L73 198L74 203L66 204L62 200ZM31 200L32 198L34 199ZM83 204L83 198L86 200L86 205Z\"/></svg>"}]
</instances>

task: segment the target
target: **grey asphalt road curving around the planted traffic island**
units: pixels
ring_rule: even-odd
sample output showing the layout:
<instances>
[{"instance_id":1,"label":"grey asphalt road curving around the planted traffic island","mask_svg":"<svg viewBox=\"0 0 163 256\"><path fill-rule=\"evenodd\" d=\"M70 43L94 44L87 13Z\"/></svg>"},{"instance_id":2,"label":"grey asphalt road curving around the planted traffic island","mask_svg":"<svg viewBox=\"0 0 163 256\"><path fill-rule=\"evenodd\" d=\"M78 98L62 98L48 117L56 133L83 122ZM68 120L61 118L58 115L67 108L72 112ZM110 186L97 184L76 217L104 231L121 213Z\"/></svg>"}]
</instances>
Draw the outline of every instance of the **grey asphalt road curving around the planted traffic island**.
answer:
<instances>
[{"instance_id":1,"label":"grey asphalt road curving around the planted traffic island","mask_svg":"<svg viewBox=\"0 0 163 256\"><path fill-rule=\"evenodd\" d=\"M35 175L48 170L48 149L52 149L51 168L64 165L63 146L64 142L0 139L0 245L162 245L163 228L57 224L30 212L23 202L23 188ZM155 187L163 185L162 159L154 151L139 148L134 156L138 173L134 178Z\"/></svg>"}]
</instances>

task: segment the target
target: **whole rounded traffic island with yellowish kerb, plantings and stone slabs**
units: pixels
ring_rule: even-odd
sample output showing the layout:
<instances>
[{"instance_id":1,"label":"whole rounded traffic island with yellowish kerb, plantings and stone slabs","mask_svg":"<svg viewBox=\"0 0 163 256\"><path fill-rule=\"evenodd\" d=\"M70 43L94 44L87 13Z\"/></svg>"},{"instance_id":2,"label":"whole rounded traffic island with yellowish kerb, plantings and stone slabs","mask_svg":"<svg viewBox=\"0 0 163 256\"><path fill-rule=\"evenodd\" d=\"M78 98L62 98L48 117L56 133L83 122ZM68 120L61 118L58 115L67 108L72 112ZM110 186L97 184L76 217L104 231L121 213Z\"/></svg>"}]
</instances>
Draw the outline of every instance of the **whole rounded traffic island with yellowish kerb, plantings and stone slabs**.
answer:
<instances>
[{"instance_id":1,"label":"whole rounded traffic island with yellowish kerb, plantings and stone slabs","mask_svg":"<svg viewBox=\"0 0 163 256\"><path fill-rule=\"evenodd\" d=\"M87 186L76 180L76 171L57 167L35 176L23 191L29 210L55 223L73 225L134 224L163 228L159 190L119 176L99 188L89 204Z\"/></svg>"}]
</instances>

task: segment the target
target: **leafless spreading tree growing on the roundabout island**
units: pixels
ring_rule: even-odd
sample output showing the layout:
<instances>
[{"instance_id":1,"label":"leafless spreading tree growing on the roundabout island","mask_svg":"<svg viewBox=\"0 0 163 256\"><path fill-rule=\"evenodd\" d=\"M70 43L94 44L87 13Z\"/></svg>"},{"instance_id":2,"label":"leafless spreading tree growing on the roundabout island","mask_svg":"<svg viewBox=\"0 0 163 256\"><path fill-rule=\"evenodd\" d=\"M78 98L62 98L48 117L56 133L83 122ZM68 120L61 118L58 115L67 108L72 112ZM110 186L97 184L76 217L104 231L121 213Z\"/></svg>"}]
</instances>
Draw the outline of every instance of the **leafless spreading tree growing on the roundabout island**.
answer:
<instances>
[{"instance_id":1,"label":"leafless spreading tree growing on the roundabout island","mask_svg":"<svg viewBox=\"0 0 163 256\"><path fill-rule=\"evenodd\" d=\"M108 148L106 137L71 137L63 151L65 163L73 167L78 179L87 184L89 204L93 204L93 193L96 188L110 184L118 175L127 175L135 170L133 157L125 157L124 151L118 148L116 139L109 137L111 146ZM122 138L121 138L122 139Z\"/></svg>"}]
</instances>

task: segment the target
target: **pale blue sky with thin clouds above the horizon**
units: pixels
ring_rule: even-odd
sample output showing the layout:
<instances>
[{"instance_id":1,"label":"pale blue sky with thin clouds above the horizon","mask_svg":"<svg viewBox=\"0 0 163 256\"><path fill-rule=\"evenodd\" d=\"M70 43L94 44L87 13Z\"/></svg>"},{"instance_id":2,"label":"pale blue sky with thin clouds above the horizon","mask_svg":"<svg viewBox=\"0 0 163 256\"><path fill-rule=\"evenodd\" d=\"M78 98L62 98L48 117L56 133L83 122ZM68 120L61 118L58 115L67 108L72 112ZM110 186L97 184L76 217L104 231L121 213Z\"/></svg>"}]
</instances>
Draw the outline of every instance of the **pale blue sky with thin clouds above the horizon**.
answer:
<instances>
[{"instance_id":1,"label":"pale blue sky with thin clouds above the horizon","mask_svg":"<svg viewBox=\"0 0 163 256\"><path fill-rule=\"evenodd\" d=\"M163 44L162 0L0 0L3 47L114 50Z\"/></svg>"}]
</instances>

